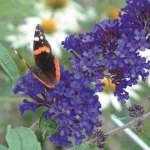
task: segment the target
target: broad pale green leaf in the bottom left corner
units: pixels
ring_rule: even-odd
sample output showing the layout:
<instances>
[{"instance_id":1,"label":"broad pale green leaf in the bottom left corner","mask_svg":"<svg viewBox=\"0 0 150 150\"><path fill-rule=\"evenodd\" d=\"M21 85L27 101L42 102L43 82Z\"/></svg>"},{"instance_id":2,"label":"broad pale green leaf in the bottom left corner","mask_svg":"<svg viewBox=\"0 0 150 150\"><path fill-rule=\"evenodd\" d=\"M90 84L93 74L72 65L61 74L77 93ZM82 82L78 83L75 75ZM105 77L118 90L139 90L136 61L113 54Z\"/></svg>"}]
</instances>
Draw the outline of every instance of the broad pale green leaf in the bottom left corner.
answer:
<instances>
[{"instance_id":1,"label":"broad pale green leaf in the bottom left corner","mask_svg":"<svg viewBox=\"0 0 150 150\"><path fill-rule=\"evenodd\" d=\"M11 125L7 127L6 140L9 150L41 150L41 145L33 131L25 127L13 129Z\"/></svg>"}]
</instances>

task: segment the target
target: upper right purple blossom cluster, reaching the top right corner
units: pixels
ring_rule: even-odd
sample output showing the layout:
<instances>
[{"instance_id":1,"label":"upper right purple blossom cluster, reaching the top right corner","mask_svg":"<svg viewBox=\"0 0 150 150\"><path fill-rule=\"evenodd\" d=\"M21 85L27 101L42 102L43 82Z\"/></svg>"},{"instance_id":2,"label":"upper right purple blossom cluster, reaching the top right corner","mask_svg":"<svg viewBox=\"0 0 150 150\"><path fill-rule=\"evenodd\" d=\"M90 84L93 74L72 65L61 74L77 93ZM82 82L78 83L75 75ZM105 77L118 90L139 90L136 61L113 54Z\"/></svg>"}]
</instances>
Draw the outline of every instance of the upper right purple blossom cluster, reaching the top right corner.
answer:
<instances>
[{"instance_id":1,"label":"upper right purple blossom cluster, reaching the top right corner","mask_svg":"<svg viewBox=\"0 0 150 150\"><path fill-rule=\"evenodd\" d=\"M95 92L103 90L100 79L111 79L116 84L114 95L125 103L126 87L149 75L150 62L139 53L150 48L149 8L149 0L127 0L120 20L104 20L92 32L67 37L62 45L74 55L70 59L74 77L85 80L85 86L94 82Z\"/></svg>"}]
</instances>

